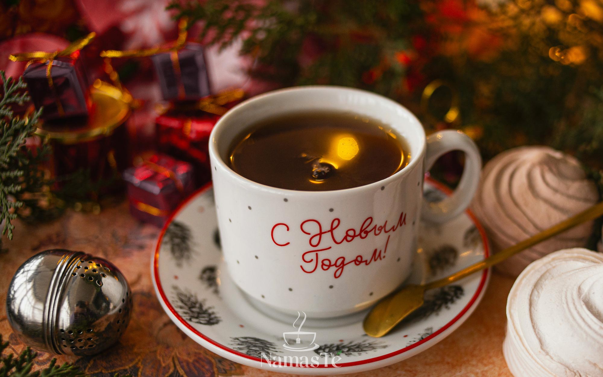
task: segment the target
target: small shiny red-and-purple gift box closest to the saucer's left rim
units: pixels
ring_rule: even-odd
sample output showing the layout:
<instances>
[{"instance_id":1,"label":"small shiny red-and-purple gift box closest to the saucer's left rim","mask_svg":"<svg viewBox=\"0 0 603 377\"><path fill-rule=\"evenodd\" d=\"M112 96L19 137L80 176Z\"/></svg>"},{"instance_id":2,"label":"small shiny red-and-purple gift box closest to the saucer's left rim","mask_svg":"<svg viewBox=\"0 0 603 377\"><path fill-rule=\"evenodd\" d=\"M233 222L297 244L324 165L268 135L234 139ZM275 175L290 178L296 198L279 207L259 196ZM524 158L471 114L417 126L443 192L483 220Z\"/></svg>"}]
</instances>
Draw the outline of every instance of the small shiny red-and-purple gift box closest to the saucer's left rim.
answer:
<instances>
[{"instance_id":1,"label":"small shiny red-and-purple gift box closest to the saucer's left rim","mask_svg":"<svg viewBox=\"0 0 603 377\"><path fill-rule=\"evenodd\" d=\"M162 154L126 169L124 179L132 216L159 227L195 189L192 165Z\"/></svg>"}]
</instances>

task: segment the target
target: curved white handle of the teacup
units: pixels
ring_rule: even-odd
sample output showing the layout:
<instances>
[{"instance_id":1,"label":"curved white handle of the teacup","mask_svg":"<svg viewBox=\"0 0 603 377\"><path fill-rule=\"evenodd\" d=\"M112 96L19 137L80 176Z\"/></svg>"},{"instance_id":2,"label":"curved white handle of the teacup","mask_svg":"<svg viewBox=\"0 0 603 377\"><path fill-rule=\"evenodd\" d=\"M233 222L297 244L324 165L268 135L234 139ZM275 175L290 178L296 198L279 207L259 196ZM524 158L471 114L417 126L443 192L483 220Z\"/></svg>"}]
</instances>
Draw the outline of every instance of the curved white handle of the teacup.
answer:
<instances>
[{"instance_id":1,"label":"curved white handle of the teacup","mask_svg":"<svg viewBox=\"0 0 603 377\"><path fill-rule=\"evenodd\" d=\"M469 207L473 195L478 189L482 158L479 155L478 147L463 131L447 129L428 136L425 172L434 166L435 161L441 155L450 151L465 152L463 176L461 176L461 181L456 190L446 199L440 202L427 202L423 199L421 216L431 222L447 222L463 212Z\"/></svg>"}]
</instances>

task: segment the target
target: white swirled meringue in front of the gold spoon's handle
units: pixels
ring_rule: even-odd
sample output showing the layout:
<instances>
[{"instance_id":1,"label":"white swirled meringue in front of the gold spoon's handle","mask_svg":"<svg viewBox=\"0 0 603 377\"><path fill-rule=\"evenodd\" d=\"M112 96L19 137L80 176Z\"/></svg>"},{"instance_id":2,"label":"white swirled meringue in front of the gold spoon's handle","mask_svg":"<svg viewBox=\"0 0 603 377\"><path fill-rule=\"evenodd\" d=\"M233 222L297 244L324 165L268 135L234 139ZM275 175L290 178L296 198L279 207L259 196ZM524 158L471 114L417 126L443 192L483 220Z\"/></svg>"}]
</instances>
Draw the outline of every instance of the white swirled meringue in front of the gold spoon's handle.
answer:
<instances>
[{"instance_id":1,"label":"white swirled meringue in front of the gold spoon's handle","mask_svg":"<svg viewBox=\"0 0 603 377\"><path fill-rule=\"evenodd\" d=\"M503 351L516 377L602 377L603 255L553 252L519 275L507 299Z\"/></svg>"}]
</instances>

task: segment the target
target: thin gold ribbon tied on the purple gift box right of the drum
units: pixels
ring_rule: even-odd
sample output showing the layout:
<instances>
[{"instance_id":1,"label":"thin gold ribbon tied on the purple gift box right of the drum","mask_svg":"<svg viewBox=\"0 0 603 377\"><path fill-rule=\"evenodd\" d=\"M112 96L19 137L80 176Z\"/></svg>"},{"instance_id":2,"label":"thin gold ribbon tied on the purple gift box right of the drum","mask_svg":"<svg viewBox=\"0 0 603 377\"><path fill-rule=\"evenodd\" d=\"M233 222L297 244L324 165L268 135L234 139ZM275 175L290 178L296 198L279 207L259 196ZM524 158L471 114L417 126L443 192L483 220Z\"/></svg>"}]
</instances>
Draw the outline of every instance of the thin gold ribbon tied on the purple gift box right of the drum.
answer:
<instances>
[{"instance_id":1,"label":"thin gold ribbon tied on the purple gift box right of the drum","mask_svg":"<svg viewBox=\"0 0 603 377\"><path fill-rule=\"evenodd\" d=\"M112 58L136 58L136 57L149 57L155 54L162 54L164 52L169 52L170 59L172 60L172 66L174 67L174 72L176 75L180 76L180 62L178 61L178 51L182 49L186 44L186 37L188 37L188 19L186 17L180 19L178 21L178 38L175 43L171 46L158 46L154 48L148 49L139 49L139 50L126 50L126 51L118 51L118 50L105 50L101 51L101 57L104 58L105 63L105 71L109 74L109 78L112 79L113 83L116 84L121 89L121 83L119 83L119 77L113 69L111 64ZM184 98L185 96L185 88L182 84L182 79L178 80L178 98Z\"/></svg>"}]
</instances>

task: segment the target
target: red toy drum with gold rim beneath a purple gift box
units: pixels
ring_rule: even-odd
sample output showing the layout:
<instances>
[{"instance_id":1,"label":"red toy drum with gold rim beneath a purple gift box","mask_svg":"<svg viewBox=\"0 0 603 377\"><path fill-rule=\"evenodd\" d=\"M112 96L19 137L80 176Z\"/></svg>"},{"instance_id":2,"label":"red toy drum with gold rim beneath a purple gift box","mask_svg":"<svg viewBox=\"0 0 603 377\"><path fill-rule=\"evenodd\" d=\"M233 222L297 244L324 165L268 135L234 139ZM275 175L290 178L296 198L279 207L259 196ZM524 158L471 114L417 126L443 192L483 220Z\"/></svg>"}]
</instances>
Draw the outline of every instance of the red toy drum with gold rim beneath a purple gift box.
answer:
<instances>
[{"instance_id":1,"label":"red toy drum with gold rim beneath a purple gift box","mask_svg":"<svg viewBox=\"0 0 603 377\"><path fill-rule=\"evenodd\" d=\"M52 149L47 165L55 189L69 185L72 175L84 173L90 183L87 196L98 201L123 188L119 176L129 164L125 123L131 96L97 80L90 87L90 99L93 106L87 118L40 121L36 134Z\"/></svg>"}]
</instances>

